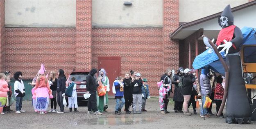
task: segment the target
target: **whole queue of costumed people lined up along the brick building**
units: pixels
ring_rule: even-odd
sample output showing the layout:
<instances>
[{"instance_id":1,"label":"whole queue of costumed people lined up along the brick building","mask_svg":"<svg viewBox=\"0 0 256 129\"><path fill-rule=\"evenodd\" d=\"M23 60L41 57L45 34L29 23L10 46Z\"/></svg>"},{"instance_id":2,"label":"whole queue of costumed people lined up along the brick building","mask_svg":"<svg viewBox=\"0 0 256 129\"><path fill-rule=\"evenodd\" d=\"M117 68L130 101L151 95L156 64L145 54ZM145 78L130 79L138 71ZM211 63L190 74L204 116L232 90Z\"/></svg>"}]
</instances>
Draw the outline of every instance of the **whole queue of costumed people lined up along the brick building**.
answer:
<instances>
[{"instance_id":1,"label":"whole queue of costumed people lined up along the brick building","mask_svg":"<svg viewBox=\"0 0 256 129\"><path fill-rule=\"evenodd\" d=\"M93 74L90 72L91 76L93 78L96 78L97 76L95 74L96 69L92 69ZM74 109L74 112L78 112L77 108L77 92L76 92L76 84L75 84L75 78L71 78L72 82L70 82L67 90L66 90L66 76L63 74L64 71L60 69L58 71L59 79L56 78L56 73L54 71L51 71L50 73L50 81L48 80L48 74L45 76L45 68L44 65L41 65L41 69L38 71L36 77L32 81L32 105L34 107L34 111L39 114L46 114L48 109L48 103L49 98L51 100L51 109L49 112L57 112L57 113L63 113L63 107L64 103L63 99L64 97L68 97L68 107L69 111L72 112L72 108ZM131 74L131 76L130 76ZM218 76L216 80L216 86L213 85L215 88L211 88L209 85L210 80L208 78L209 72L206 70L202 70L202 74L200 76L203 80L201 83L202 88L202 99L204 103L205 96L209 95L209 93L212 89L213 96L215 103L217 105L216 111L219 110L220 104L222 102L223 94L224 94L224 87L223 83L224 79L221 76ZM10 85L10 77L9 72L0 73L0 113L5 114L8 112L11 112L10 109L11 104L13 103L14 99L12 96L11 91L11 85ZM115 107L115 114L120 115L122 113L122 107L125 105L125 113L136 113L140 114L142 111L147 111L145 109L146 106L146 100L150 98L150 91L149 86L147 85L147 79L140 78L141 74L136 73L136 71L130 71L130 73L125 73L125 78L119 76L114 82L112 91L115 94L116 99L116 107ZM61 78L60 78L61 77ZM17 71L14 73L14 79L16 80L14 82L14 95L16 97L16 113L23 113L25 112L22 109L22 101L23 97L25 96L25 87L24 83L21 80L22 73L20 71ZM64 78L64 79L63 79ZM171 79L172 78L172 79ZM184 79L185 78L185 79ZM63 80L64 83L63 83ZM195 101L194 96L198 94L198 80L195 76L195 71L191 71L190 69L183 69L182 67L179 68L179 71L177 74L175 74L172 77L172 70L167 69L165 74L160 79L161 81L157 83L159 87L159 104L160 104L160 110L161 114L169 113L167 111L167 105L169 102L170 93L172 93L172 84L175 84L175 91L180 91L180 94L183 95L184 99L183 103L183 109L184 109L184 115L191 115L191 113L188 111L188 107L192 101ZM207 80L207 81L206 81ZM89 81L88 81L89 82ZM100 69L99 76L97 79L95 79L96 84L93 82L93 86L97 87L99 84L103 85L105 87L105 94L99 95L96 89L91 89L88 84L88 93L95 93L96 98L94 99L94 94L91 95L91 98L89 98L90 104L88 104L88 113L94 113L94 114L102 114L102 112L106 111L108 108L108 96L107 92L109 91L109 79L106 76L106 71L104 69ZM62 84L63 83L63 84ZM98 83L98 84L97 84ZM181 85L179 84L181 83ZM207 84L206 84L207 83ZM214 84L214 83L213 83ZM63 86L65 86L65 89L63 90ZM177 87L176 87L177 86ZM59 90L58 90L59 89ZM177 97L178 96L178 97ZM176 97L179 98L180 95L176 94ZM58 100L58 104L60 106L60 111L56 111L56 98ZM175 98L175 94L174 94ZM93 101L91 101L93 100ZM177 100L177 99L175 99ZM174 111L175 112L183 112L182 107L179 101L174 100ZM95 106L97 103L97 107L95 109ZM194 102L195 103L195 102ZM195 104L193 104L194 114L196 114L195 111ZM130 111L130 107L132 106L132 111ZM53 109L54 107L54 109ZM89 108L91 109L89 111ZM203 111L204 110L204 111ZM202 113L205 114L202 114ZM210 114L208 114L208 111L206 109L201 109L200 116L209 117ZM223 114L221 116L217 116L219 118L223 117Z\"/></svg>"}]
</instances>

